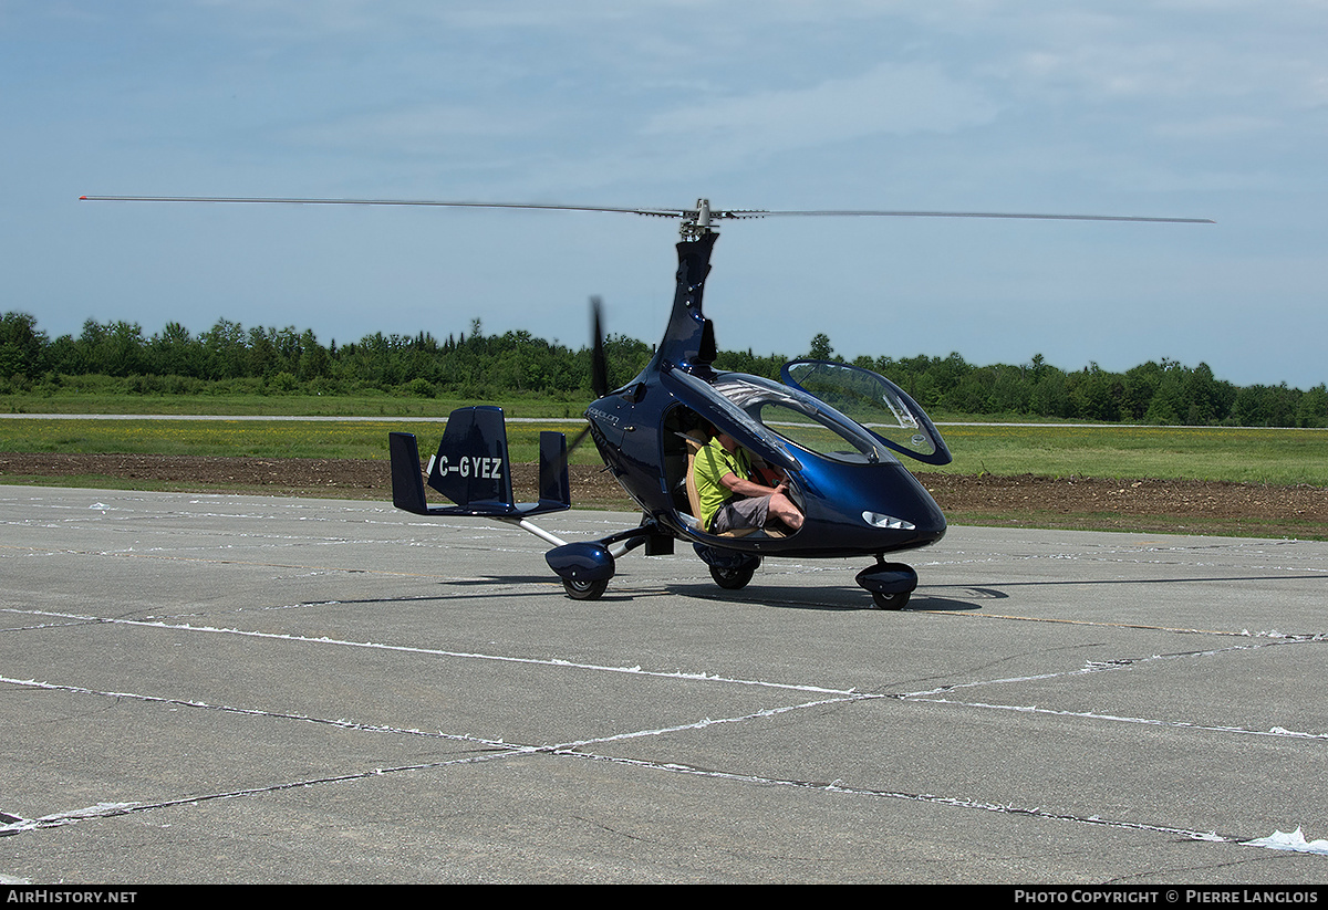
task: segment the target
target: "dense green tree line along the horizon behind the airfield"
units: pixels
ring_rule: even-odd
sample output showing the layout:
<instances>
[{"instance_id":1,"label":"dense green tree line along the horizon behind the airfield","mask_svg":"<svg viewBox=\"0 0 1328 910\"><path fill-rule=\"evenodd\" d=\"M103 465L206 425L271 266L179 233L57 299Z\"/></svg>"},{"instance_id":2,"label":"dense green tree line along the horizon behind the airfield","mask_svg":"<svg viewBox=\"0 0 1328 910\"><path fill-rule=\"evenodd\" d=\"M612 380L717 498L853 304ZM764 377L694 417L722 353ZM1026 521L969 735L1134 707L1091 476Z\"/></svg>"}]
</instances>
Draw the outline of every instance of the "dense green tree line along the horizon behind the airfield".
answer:
<instances>
[{"instance_id":1,"label":"dense green tree line along the horizon behind the airfield","mask_svg":"<svg viewBox=\"0 0 1328 910\"><path fill-rule=\"evenodd\" d=\"M627 382L649 361L652 348L625 336L604 342L610 381ZM807 357L843 359L829 337L811 340ZM788 361L746 352L720 352L717 367L778 378ZM858 357L847 361L887 377L928 411L1027 415L1190 426L1328 426L1328 389L1235 386L1206 363L1190 367L1163 358L1125 373L1090 363L1065 371L1041 354L1028 363L977 366L963 357ZM356 342L323 345L312 330L276 329L219 320L191 333L179 322L145 336L137 322L84 322L78 337L52 340L28 313L0 318L0 394L54 389L78 377L106 377L112 391L199 394L348 394L381 390L417 397L506 398L539 394L567 401L591 397L591 352L537 338L529 332L470 333L446 340L373 333Z\"/></svg>"}]
</instances>

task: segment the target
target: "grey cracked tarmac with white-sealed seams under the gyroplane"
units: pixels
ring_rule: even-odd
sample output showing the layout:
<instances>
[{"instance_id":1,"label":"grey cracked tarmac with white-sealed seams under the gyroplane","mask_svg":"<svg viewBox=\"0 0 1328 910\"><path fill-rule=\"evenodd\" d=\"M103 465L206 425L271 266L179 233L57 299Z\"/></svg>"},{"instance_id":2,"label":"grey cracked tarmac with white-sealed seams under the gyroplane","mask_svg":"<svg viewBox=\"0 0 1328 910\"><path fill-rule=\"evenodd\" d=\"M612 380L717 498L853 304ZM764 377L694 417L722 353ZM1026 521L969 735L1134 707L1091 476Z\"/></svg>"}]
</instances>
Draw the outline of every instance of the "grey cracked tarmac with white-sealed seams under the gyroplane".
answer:
<instances>
[{"instance_id":1,"label":"grey cracked tarmac with white-sealed seams under the gyroplane","mask_svg":"<svg viewBox=\"0 0 1328 910\"><path fill-rule=\"evenodd\" d=\"M578 602L491 523L0 487L0 882L1328 879L1328 544L910 557Z\"/></svg>"}]
</instances>

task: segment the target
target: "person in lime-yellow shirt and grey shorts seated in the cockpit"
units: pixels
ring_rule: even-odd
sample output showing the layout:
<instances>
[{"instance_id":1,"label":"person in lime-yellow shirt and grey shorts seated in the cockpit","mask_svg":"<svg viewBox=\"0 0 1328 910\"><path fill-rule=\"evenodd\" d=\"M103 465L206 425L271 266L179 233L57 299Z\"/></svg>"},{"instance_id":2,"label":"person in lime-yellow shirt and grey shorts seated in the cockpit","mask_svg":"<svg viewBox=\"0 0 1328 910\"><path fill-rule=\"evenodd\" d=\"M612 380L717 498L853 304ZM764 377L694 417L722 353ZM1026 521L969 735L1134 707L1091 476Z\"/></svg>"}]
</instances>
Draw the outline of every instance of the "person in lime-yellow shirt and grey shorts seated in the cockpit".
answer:
<instances>
[{"instance_id":1,"label":"person in lime-yellow shirt and grey shorts seated in the cockpit","mask_svg":"<svg viewBox=\"0 0 1328 910\"><path fill-rule=\"evenodd\" d=\"M774 487L752 480L746 450L725 432L716 432L696 454L692 476L701 500L701 527L712 535L761 528L772 517L790 531L802 527L802 512L786 493L788 478L781 478Z\"/></svg>"}]
</instances>

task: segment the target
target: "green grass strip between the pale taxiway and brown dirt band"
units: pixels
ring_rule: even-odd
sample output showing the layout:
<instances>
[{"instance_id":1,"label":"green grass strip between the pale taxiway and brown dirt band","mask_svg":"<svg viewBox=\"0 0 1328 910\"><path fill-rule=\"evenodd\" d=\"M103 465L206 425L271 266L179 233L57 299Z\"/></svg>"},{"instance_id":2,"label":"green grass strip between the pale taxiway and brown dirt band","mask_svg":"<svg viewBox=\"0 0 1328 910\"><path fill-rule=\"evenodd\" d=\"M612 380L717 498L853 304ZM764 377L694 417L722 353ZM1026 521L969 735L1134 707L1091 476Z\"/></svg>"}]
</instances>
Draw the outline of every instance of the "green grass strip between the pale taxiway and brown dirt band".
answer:
<instances>
[{"instance_id":1,"label":"green grass strip between the pale taxiway and brown dirt band","mask_svg":"<svg viewBox=\"0 0 1328 910\"><path fill-rule=\"evenodd\" d=\"M509 423L513 459L537 459L540 430L572 436L583 426L575 419ZM421 451L432 451L442 423L409 415L382 421L5 418L0 419L0 451L385 459L392 430L414 432ZM951 474L1328 486L1328 430L1058 424L940 430L955 455L940 470ZM599 463L592 446L582 447L572 460Z\"/></svg>"}]
</instances>

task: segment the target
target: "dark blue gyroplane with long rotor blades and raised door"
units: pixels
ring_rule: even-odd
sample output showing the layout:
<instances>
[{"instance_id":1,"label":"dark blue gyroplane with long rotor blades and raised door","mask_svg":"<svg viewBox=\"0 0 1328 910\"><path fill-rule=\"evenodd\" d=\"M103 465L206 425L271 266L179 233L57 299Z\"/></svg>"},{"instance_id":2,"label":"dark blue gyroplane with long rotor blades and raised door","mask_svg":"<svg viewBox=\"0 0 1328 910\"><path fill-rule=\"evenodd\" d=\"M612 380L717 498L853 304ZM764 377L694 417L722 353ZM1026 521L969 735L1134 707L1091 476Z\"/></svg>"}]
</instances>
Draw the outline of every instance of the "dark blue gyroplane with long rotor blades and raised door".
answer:
<instances>
[{"instance_id":1,"label":"dark blue gyroplane with long rotor blades and raised door","mask_svg":"<svg viewBox=\"0 0 1328 910\"><path fill-rule=\"evenodd\" d=\"M649 363L627 385L608 387L600 316L594 306L592 385L588 423L568 446L560 432L542 432L538 499L515 501L503 413L493 406L452 413L437 452L421 467L413 434L389 434L392 500L406 512L478 517L527 531L550 545L548 566L575 600L600 597L618 560L644 548L647 556L691 544L717 585L741 589L766 557L870 558L857 584L876 609L898 610L918 586L918 573L887 554L940 540L946 517L904 462L947 464L950 450L923 409L890 379L837 361L797 359L782 382L717 369L714 325L703 312L716 222L770 216L997 218L1089 222L1211 223L1207 219L1121 215L1036 215L928 211L764 211L712 208L706 199L685 208L616 208L526 203L392 199L276 199L220 196L82 196L120 202L227 202L359 206L440 206L603 211L677 219L677 281L664 338ZM639 524L598 540L566 541L531 519L571 508L567 456L586 436L604 468L640 508ZM703 493L695 463L713 436L745 451L753 471L769 471L799 519L716 532L703 524ZM425 486L452 500L430 505ZM760 482L758 482L760 483Z\"/></svg>"}]
</instances>

